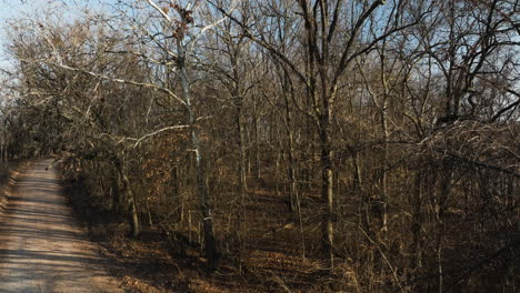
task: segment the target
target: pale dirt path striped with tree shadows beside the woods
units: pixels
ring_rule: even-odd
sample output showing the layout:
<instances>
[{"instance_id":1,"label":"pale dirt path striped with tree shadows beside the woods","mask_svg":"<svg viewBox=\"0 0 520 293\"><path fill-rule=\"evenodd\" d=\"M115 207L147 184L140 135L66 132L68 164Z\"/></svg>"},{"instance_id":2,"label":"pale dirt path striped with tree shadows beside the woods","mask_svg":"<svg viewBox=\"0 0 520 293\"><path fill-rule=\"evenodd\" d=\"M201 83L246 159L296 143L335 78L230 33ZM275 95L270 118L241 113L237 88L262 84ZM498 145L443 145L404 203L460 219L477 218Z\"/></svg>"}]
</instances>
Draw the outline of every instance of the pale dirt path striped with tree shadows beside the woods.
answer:
<instances>
[{"instance_id":1,"label":"pale dirt path striped with tree shadows beside the woods","mask_svg":"<svg viewBox=\"0 0 520 293\"><path fill-rule=\"evenodd\" d=\"M20 175L0 216L0 292L122 292L46 170L51 162Z\"/></svg>"}]
</instances>

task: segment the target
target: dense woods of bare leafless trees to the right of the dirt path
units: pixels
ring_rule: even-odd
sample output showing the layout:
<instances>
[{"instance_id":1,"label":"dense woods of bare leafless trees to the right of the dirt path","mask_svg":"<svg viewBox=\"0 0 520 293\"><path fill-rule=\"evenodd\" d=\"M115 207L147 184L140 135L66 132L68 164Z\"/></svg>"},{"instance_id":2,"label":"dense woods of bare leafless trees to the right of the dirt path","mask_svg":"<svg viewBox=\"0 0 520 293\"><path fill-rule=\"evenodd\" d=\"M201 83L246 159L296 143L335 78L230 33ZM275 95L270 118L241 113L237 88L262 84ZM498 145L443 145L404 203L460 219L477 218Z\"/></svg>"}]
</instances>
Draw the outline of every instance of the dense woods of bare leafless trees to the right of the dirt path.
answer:
<instances>
[{"instance_id":1,"label":"dense woods of bare leafless trees to the right of the dirt path","mask_svg":"<svg viewBox=\"0 0 520 293\"><path fill-rule=\"evenodd\" d=\"M56 156L127 238L269 292L519 291L518 1L106 1L8 34L2 162Z\"/></svg>"}]
</instances>

